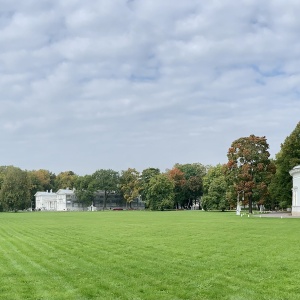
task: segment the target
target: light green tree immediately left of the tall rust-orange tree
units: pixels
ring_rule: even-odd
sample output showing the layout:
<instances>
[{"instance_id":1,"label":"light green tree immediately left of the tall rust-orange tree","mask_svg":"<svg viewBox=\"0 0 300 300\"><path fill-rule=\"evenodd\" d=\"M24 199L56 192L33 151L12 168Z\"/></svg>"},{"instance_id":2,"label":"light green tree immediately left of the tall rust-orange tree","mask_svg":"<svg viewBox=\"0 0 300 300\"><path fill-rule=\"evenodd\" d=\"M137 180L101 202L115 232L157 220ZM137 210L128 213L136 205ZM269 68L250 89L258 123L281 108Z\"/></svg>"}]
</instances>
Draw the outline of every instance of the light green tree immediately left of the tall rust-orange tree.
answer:
<instances>
[{"instance_id":1,"label":"light green tree immediately left of the tall rust-orange tree","mask_svg":"<svg viewBox=\"0 0 300 300\"><path fill-rule=\"evenodd\" d=\"M227 182L225 178L224 166L221 164L209 168L203 177L203 192L201 199L202 207L207 209L222 210L230 208L227 197Z\"/></svg>"}]
</instances>

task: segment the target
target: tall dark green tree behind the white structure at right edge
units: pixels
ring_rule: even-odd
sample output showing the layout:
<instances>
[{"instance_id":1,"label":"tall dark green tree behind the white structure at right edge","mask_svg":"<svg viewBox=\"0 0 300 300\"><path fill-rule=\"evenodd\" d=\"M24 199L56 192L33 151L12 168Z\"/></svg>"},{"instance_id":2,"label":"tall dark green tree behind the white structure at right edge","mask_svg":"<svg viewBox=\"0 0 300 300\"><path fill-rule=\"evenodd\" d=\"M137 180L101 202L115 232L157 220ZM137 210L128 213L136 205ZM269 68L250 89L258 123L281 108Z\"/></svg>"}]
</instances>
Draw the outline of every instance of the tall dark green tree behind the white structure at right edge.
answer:
<instances>
[{"instance_id":1,"label":"tall dark green tree behind the white structure at right edge","mask_svg":"<svg viewBox=\"0 0 300 300\"><path fill-rule=\"evenodd\" d=\"M281 144L275 159L276 173L272 178L270 192L271 208L292 204L292 177L289 171L300 165L300 122Z\"/></svg>"}]
</instances>

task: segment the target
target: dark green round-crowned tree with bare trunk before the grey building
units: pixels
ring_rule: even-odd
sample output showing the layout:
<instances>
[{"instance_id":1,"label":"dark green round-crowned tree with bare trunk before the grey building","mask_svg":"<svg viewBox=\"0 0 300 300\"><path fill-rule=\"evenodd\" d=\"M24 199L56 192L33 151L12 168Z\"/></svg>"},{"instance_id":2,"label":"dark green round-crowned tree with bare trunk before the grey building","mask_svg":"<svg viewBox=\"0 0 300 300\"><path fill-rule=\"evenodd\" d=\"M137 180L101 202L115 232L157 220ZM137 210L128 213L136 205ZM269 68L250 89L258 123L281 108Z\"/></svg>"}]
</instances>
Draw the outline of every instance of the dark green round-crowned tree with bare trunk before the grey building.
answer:
<instances>
[{"instance_id":1,"label":"dark green round-crowned tree with bare trunk before the grey building","mask_svg":"<svg viewBox=\"0 0 300 300\"><path fill-rule=\"evenodd\" d=\"M118 190L119 174L111 169L100 169L93 173L92 177L94 191L104 191L103 209L106 209L108 195Z\"/></svg>"}]
</instances>

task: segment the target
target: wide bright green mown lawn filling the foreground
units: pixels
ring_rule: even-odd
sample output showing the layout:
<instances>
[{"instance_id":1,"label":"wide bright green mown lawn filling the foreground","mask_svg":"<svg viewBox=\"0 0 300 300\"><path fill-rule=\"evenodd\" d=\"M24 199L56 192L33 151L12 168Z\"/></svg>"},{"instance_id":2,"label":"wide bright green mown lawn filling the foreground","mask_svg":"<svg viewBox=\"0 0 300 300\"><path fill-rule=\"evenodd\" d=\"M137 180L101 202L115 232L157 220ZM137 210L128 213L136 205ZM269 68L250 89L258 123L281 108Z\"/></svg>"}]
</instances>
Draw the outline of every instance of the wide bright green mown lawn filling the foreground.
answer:
<instances>
[{"instance_id":1,"label":"wide bright green mown lawn filling the foreground","mask_svg":"<svg viewBox=\"0 0 300 300\"><path fill-rule=\"evenodd\" d=\"M300 219L0 214L0 299L300 299Z\"/></svg>"}]
</instances>

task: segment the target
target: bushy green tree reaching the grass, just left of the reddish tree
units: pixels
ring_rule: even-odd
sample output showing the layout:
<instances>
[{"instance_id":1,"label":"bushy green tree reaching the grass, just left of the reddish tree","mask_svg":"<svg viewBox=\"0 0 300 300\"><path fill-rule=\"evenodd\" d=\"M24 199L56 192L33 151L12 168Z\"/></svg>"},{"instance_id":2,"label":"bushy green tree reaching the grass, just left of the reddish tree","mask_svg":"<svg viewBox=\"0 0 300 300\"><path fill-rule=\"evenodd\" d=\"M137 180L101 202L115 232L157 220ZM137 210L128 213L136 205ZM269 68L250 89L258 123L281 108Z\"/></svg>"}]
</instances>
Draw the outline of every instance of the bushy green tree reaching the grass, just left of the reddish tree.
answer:
<instances>
[{"instance_id":1,"label":"bushy green tree reaching the grass, just left of the reddish tree","mask_svg":"<svg viewBox=\"0 0 300 300\"><path fill-rule=\"evenodd\" d=\"M174 181L166 174L151 177L146 203L151 210L174 208Z\"/></svg>"}]
</instances>

